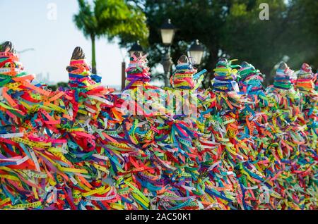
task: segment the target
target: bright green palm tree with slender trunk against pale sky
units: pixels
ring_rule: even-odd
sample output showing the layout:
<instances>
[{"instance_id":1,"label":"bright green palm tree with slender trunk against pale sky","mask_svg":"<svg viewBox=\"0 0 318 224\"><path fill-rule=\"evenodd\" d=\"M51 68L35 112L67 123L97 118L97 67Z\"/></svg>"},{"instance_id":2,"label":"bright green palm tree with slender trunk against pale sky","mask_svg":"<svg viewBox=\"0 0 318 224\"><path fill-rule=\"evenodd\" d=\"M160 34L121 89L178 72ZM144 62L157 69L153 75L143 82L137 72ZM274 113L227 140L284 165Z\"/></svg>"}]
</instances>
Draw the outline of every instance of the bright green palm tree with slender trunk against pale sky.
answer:
<instances>
[{"instance_id":1,"label":"bright green palm tree with slender trunk against pale sky","mask_svg":"<svg viewBox=\"0 0 318 224\"><path fill-rule=\"evenodd\" d=\"M73 21L86 38L92 42L92 73L96 74L95 40L114 37L124 43L137 40L145 43L148 37L146 16L141 8L126 0L94 0L93 5L86 0L78 0L79 12Z\"/></svg>"}]
</instances>

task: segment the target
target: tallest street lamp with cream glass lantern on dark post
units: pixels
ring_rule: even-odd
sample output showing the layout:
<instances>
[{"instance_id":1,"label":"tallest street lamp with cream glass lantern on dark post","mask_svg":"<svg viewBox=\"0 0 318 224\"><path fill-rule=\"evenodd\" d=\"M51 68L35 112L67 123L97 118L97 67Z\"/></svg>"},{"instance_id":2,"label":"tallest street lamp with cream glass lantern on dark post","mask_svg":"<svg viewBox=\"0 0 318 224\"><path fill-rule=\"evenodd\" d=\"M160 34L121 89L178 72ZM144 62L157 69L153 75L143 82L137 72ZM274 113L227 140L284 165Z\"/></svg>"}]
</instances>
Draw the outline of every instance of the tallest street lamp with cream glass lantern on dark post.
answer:
<instances>
[{"instance_id":1,"label":"tallest street lamp with cream glass lantern on dark post","mask_svg":"<svg viewBox=\"0 0 318 224\"><path fill-rule=\"evenodd\" d=\"M171 66L173 65L172 58L170 56L171 44L173 42L173 38L175 37L176 27L171 23L170 19L167 19L163 25L160 27L160 34L163 44L165 45L165 56L161 60L161 64L163 65L163 70L165 72L165 87L169 85L169 77Z\"/></svg>"}]
</instances>

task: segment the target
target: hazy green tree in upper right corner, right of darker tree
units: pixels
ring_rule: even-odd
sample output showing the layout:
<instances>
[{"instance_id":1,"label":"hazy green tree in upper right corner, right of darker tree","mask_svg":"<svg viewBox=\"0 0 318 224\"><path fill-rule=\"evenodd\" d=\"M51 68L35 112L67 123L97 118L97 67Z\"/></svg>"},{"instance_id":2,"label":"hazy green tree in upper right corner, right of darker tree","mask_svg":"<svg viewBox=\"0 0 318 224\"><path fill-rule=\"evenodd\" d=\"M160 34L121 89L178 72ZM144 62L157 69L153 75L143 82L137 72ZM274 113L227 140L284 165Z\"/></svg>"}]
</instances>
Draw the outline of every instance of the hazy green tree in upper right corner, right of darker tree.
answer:
<instances>
[{"instance_id":1,"label":"hazy green tree in upper right corner, right of darker tree","mask_svg":"<svg viewBox=\"0 0 318 224\"><path fill-rule=\"evenodd\" d=\"M288 66L298 70L303 62L317 68L318 1L270 0L269 20L259 20L259 4L237 1L227 17L224 49L233 57L250 61L273 81L273 65L288 56Z\"/></svg>"}]
</instances>

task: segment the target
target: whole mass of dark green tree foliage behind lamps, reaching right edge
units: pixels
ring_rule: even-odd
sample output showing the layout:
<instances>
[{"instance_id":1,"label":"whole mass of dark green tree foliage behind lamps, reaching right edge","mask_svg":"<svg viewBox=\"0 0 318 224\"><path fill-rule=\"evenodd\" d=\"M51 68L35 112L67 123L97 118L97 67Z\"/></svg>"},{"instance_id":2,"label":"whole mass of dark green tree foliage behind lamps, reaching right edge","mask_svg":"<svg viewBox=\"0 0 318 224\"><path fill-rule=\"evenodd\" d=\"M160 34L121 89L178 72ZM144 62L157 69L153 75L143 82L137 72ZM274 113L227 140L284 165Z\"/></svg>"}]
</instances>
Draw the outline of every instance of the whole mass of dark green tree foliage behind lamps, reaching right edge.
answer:
<instances>
[{"instance_id":1,"label":"whole mass of dark green tree foliage behind lamps, reaching right edge","mask_svg":"<svg viewBox=\"0 0 318 224\"><path fill-rule=\"evenodd\" d=\"M206 48L201 68L207 68L205 87L220 56L249 61L267 82L273 66L289 56L288 64L299 68L307 61L317 68L318 1L267 0L269 20L260 20L259 4L264 0L135 0L149 27L150 66L163 56L159 27L170 18L177 31L172 44L172 60L186 54L189 44L199 39ZM156 75L156 74L154 74Z\"/></svg>"}]
</instances>

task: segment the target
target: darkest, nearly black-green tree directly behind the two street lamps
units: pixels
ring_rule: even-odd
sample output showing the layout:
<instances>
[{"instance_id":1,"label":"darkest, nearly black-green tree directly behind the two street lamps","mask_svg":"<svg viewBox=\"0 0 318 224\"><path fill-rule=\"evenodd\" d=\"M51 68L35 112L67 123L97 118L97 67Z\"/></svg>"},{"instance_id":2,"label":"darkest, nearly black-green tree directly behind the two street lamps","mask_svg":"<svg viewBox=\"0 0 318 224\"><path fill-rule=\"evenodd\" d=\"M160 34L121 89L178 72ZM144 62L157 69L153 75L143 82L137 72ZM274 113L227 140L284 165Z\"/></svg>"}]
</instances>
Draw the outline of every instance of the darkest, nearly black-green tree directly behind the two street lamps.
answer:
<instances>
[{"instance_id":1,"label":"darkest, nearly black-green tree directly behind the two street lamps","mask_svg":"<svg viewBox=\"0 0 318 224\"><path fill-rule=\"evenodd\" d=\"M140 1L139 1L140 2ZM175 1L141 1L143 11L147 17L149 27L149 66L160 63L163 56L159 27L170 18L178 28L172 44L172 61L176 62L179 56L186 54L189 44L199 39L206 47L206 54L200 68L207 68L209 74L218 58L220 49L221 27L225 23L230 1L228 0L175 0ZM160 75L153 73L156 77ZM211 77L211 75L206 75ZM208 85L208 79L206 85Z\"/></svg>"}]
</instances>

